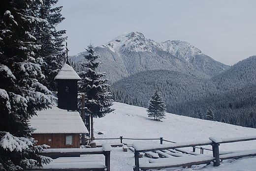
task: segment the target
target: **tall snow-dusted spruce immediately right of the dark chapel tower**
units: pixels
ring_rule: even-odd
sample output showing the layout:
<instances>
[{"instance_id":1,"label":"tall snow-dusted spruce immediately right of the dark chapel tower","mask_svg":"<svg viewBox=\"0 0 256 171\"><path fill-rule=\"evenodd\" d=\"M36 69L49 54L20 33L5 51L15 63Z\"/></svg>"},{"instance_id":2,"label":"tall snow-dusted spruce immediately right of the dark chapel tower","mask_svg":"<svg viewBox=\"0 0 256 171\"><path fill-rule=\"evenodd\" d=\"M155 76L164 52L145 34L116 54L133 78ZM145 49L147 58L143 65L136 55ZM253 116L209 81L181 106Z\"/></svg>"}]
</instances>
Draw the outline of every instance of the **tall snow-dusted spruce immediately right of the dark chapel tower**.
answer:
<instances>
[{"instance_id":1,"label":"tall snow-dusted spruce immediately right of the dark chapel tower","mask_svg":"<svg viewBox=\"0 0 256 171\"><path fill-rule=\"evenodd\" d=\"M102 79L105 75L104 72L96 71L96 68L101 64L101 62L96 62L96 59L100 56L95 55L96 52L92 44L88 46L86 51L88 54L84 54L84 57L88 63L83 63L83 65L87 70L79 73L82 80L78 82L78 90L85 93L85 107L86 113L91 116L91 140L93 141L93 118L103 117L114 110L110 108L113 100L111 92L107 91L110 86L106 84L108 79Z\"/></svg>"}]
</instances>

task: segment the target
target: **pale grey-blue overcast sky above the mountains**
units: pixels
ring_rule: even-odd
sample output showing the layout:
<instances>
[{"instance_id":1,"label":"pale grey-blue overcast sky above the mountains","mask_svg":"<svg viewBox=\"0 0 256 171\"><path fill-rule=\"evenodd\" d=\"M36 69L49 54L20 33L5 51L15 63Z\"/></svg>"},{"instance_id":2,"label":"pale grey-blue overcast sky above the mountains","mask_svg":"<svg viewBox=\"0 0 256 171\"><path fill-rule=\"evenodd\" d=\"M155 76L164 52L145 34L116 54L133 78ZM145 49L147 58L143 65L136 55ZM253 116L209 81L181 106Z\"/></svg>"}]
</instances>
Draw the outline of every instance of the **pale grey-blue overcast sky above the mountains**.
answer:
<instances>
[{"instance_id":1,"label":"pale grey-blue overcast sky above the mountains","mask_svg":"<svg viewBox=\"0 0 256 171\"><path fill-rule=\"evenodd\" d=\"M181 40L227 65L256 55L256 0L59 0L69 55L139 31Z\"/></svg>"}]
</instances>

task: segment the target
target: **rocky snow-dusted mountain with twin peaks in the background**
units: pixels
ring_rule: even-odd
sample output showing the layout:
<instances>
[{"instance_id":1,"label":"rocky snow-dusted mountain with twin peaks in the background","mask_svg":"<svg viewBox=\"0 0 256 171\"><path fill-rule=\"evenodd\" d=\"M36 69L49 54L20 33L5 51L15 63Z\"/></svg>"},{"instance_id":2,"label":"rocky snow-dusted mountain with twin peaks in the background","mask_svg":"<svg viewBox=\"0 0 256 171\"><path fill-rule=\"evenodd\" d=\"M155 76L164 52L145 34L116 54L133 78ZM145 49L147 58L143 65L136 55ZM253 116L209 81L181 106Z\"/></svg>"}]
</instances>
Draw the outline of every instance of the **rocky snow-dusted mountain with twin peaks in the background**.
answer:
<instances>
[{"instance_id":1,"label":"rocky snow-dusted mountain with twin peaks in the background","mask_svg":"<svg viewBox=\"0 0 256 171\"><path fill-rule=\"evenodd\" d=\"M186 70L207 78L229 68L202 54L188 42L168 40L158 43L136 31L121 34L96 47L96 53L101 56L98 60L103 62L99 71L106 72L111 83L146 70ZM81 62L82 54L70 58Z\"/></svg>"}]
</instances>

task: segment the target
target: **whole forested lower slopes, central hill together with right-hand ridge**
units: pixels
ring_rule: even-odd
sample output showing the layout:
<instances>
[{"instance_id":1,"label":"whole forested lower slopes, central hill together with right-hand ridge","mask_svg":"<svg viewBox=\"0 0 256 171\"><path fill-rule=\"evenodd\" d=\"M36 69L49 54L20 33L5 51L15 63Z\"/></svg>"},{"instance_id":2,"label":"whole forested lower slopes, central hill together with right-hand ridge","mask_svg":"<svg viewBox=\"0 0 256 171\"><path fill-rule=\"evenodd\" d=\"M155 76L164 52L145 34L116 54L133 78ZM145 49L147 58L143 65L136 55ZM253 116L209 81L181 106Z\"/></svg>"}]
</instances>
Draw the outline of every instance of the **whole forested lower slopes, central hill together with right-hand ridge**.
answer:
<instances>
[{"instance_id":1,"label":"whole forested lower slopes, central hill together with right-hand ridge","mask_svg":"<svg viewBox=\"0 0 256 171\"><path fill-rule=\"evenodd\" d=\"M145 71L113 84L147 106L159 89L167 112L196 117L210 107L216 120L256 127L256 56L244 59L207 79L167 70Z\"/></svg>"}]
</instances>

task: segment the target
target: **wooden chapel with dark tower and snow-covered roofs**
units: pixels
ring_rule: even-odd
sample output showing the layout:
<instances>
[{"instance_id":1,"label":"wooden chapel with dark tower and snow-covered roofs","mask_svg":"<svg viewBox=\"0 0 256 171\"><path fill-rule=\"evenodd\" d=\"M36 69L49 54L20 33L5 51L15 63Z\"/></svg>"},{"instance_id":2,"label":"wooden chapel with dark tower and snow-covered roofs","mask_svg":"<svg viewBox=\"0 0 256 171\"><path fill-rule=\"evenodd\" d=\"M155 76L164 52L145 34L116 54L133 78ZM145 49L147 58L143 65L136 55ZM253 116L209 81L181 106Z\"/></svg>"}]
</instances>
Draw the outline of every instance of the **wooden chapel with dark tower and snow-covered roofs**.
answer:
<instances>
[{"instance_id":1,"label":"wooden chapel with dark tower and snow-covered roofs","mask_svg":"<svg viewBox=\"0 0 256 171\"><path fill-rule=\"evenodd\" d=\"M89 133L77 110L77 81L81 80L67 63L55 77L58 82L58 101L52 109L37 112L30 119L32 138L37 145L50 148L79 148L80 134Z\"/></svg>"}]
</instances>

